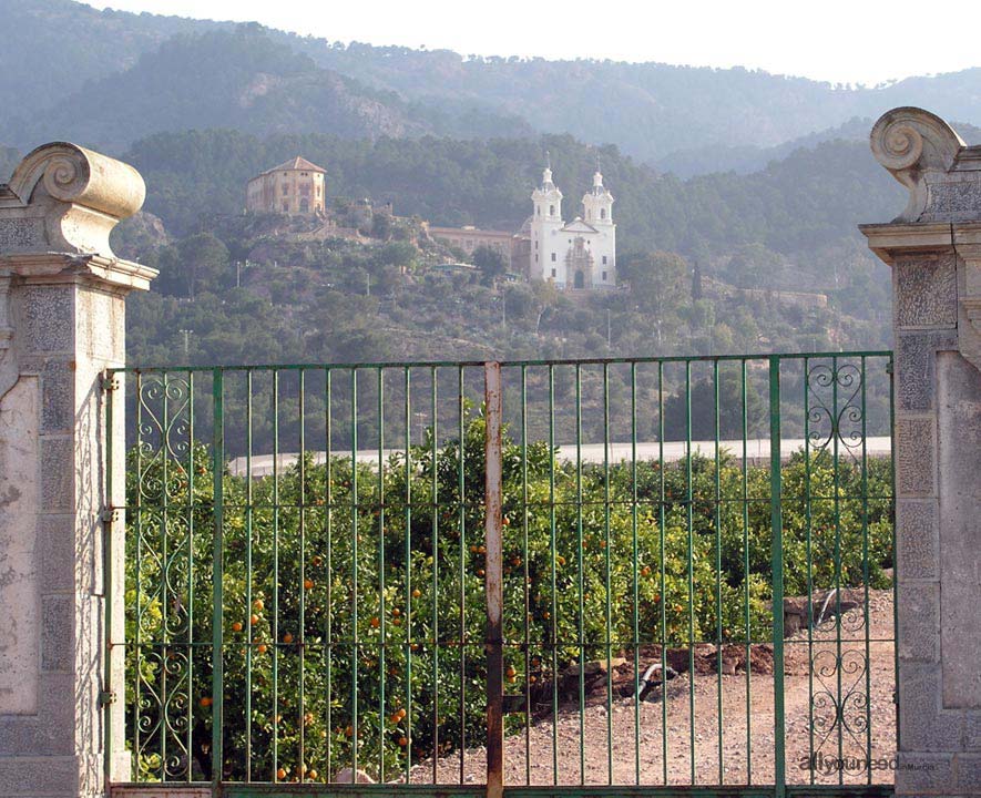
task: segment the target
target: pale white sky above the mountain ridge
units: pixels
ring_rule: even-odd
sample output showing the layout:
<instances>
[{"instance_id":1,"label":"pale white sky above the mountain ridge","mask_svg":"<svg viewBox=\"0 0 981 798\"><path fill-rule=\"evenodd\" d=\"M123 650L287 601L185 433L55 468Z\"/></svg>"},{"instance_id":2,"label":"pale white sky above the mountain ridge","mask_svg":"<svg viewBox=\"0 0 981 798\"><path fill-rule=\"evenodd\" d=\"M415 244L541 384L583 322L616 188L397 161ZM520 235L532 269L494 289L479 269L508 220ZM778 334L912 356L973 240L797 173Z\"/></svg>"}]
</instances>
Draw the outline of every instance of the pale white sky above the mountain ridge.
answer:
<instances>
[{"instance_id":1,"label":"pale white sky above the mountain ridge","mask_svg":"<svg viewBox=\"0 0 981 798\"><path fill-rule=\"evenodd\" d=\"M114 0L95 8L221 20L331 41L744 65L875 84L981 65L981 2L950 0Z\"/></svg>"}]
</instances>

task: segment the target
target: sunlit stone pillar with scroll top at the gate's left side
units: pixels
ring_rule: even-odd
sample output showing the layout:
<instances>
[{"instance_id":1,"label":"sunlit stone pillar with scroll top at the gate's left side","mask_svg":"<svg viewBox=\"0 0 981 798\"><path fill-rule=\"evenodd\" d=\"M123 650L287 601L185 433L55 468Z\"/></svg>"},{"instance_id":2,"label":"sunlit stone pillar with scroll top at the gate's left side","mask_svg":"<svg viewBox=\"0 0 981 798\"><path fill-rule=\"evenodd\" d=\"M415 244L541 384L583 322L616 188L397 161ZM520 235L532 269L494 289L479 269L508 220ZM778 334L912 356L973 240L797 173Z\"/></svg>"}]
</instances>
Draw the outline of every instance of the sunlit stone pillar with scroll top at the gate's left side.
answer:
<instances>
[{"instance_id":1,"label":"sunlit stone pillar with scroll top at the gate's left side","mask_svg":"<svg viewBox=\"0 0 981 798\"><path fill-rule=\"evenodd\" d=\"M101 796L129 778L123 652L122 402L102 389L125 357L126 294L155 272L113 256L109 234L143 203L140 174L73 144L39 147L0 185L0 795ZM106 429L105 402L116 402ZM121 470L116 471L122 473ZM106 542L112 546L106 549ZM106 557L106 551L112 552ZM111 561L110 561L111 560ZM114 756L105 755L112 714Z\"/></svg>"}]
</instances>

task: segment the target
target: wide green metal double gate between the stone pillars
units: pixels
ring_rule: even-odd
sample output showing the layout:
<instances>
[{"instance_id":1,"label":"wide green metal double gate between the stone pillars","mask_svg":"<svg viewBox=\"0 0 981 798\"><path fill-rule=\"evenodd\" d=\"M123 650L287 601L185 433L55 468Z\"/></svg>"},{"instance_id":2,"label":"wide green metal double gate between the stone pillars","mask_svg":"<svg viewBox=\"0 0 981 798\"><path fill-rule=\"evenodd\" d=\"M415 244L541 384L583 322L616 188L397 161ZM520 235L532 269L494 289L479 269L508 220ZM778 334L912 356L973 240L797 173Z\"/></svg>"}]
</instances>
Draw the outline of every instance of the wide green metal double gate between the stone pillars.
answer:
<instances>
[{"instance_id":1,"label":"wide green metal double gate between the stone pillars","mask_svg":"<svg viewBox=\"0 0 981 798\"><path fill-rule=\"evenodd\" d=\"M890 795L890 362L113 372L117 789Z\"/></svg>"}]
</instances>

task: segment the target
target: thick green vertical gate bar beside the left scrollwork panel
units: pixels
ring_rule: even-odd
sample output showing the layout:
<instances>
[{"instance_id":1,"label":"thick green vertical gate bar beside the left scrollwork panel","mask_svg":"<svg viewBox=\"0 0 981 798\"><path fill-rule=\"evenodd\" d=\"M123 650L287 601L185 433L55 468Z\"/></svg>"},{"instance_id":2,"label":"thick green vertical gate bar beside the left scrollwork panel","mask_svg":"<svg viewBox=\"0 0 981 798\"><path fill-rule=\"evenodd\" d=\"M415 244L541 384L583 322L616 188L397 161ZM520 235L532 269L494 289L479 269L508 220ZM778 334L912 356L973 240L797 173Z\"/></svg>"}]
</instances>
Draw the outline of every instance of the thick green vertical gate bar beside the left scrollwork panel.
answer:
<instances>
[{"instance_id":1,"label":"thick green vertical gate bar beside the left scrollwork panel","mask_svg":"<svg viewBox=\"0 0 981 798\"><path fill-rule=\"evenodd\" d=\"M212 781L215 787L222 780L224 720L224 470L225 470L225 406L224 371L212 372L214 400L212 444L212 477L214 480L215 540L212 562Z\"/></svg>"}]
</instances>

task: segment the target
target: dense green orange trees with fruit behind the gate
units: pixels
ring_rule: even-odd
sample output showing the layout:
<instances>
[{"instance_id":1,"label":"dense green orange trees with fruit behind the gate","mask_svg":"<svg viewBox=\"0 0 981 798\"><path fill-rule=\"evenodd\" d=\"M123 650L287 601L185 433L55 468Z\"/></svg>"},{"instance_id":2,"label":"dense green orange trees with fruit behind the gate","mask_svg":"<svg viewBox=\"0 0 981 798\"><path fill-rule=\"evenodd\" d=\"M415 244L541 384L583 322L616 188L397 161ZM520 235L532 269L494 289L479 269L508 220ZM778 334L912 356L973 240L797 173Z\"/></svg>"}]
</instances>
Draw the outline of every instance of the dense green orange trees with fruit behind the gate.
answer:
<instances>
[{"instance_id":1,"label":"dense green orange trees with fruit behind the gate","mask_svg":"<svg viewBox=\"0 0 981 798\"><path fill-rule=\"evenodd\" d=\"M244 778L246 746L255 779L282 767L279 780L300 768L321 780L351 764L356 739L359 766L386 778L410 751L429 756L437 734L440 751L463 736L480 743L483 437L483 419L470 417L462 453L429 430L380 472L308 454L275 479L222 478L225 778ZM785 467L788 595L887 586L889 485L887 461L865 474L826 454ZM164 744L171 776L207 775L207 758L190 756L211 739L213 489L201 446L130 453L126 707L141 779L164 775ZM514 688L604 655L606 640L615 654L632 640L769 638L766 469L744 473L723 457L718 469L694 458L580 472L542 442L522 449L505 436L503 497Z\"/></svg>"}]
</instances>

